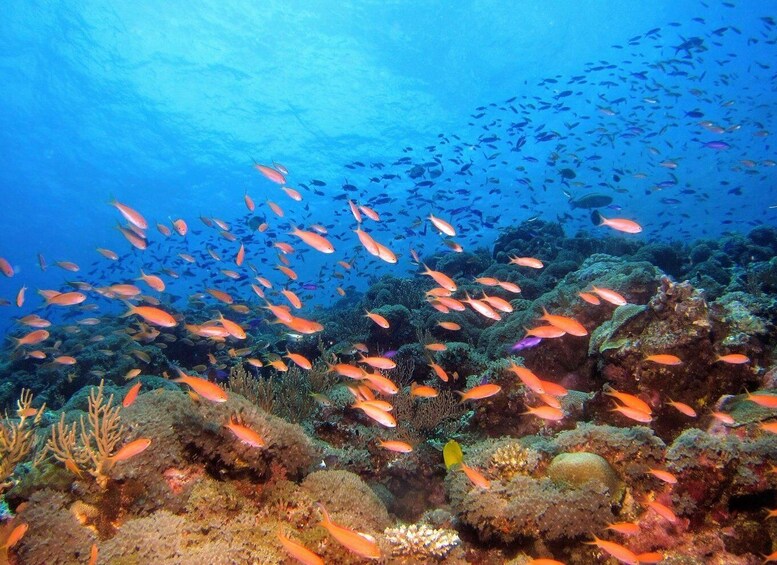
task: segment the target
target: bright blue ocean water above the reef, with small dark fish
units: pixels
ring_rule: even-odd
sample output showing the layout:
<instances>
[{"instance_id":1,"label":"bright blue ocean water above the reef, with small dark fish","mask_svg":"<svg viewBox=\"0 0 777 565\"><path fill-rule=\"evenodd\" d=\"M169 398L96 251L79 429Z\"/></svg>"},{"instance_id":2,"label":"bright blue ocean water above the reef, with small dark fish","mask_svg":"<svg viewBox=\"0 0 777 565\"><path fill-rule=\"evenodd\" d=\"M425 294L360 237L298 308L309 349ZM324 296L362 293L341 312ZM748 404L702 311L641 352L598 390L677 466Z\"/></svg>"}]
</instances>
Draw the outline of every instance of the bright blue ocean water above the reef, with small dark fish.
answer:
<instances>
[{"instance_id":1,"label":"bright blue ocean water above the reef, with small dark fish","mask_svg":"<svg viewBox=\"0 0 777 565\"><path fill-rule=\"evenodd\" d=\"M419 263L437 264L456 244L489 255L522 223L640 245L777 228L775 8L742 0L4 2L0 256L13 276L0 276L0 328L20 338L32 328L18 319L37 313L54 328L80 328L88 343L99 326L78 320L108 322L106 333L121 320L137 327L136 316L117 321L126 306L100 290L133 284L177 317L179 339L184 323L218 310L248 329L248 341L229 345L263 357L294 342L266 350L258 342L299 330L270 324L256 277L272 284L260 288L268 301L285 303L280 290L291 290L304 302L298 315L319 319L338 301L361 314L379 277L418 279ZM274 182L257 165L285 178ZM122 235L128 223L114 199L147 220L147 249ZM379 214L361 226L396 261L360 243L349 201ZM441 236L430 214L455 236ZM602 217L641 230L611 229ZM184 236L173 226L179 219ZM333 253L290 234L314 225ZM283 261L296 280L278 269ZM138 282L141 269L162 277L165 291ZM46 307L39 294L76 289L86 301L71 307ZM763 350L772 342L763 338ZM211 345L228 371L235 359ZM71 353L39 347L49 360ZM74 366L43 359L40 378L18 382L19 352L32 348L8 342L3 354L14 394L32 386L45 397L79 370L77 354ZM195 357L187 363L178 350L170 371L193 371ZM77 379L86 386L101 377L124 384L122 375L87 371Z\"/></svg>"}]
</instances>

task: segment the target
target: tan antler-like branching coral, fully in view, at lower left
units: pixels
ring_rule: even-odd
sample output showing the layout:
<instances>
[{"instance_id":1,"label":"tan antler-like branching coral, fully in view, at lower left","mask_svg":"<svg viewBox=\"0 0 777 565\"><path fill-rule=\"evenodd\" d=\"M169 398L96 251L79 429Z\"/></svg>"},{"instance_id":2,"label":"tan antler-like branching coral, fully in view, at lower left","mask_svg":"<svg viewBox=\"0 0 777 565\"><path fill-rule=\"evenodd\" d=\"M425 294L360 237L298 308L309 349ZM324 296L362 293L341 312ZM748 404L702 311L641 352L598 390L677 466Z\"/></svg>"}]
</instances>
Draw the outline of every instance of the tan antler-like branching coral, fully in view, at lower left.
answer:
<instances>
[{"instance_id":1,"label":"tan antler-like branching coral, fully in view, at lower left","mask_svg":"<svg viewBox=\"0 0 777 565\"><path fill-rule=\"evenodd\" d=\"M83 476L86 472L105 488L108 470L116 445L124 435L119 421L120 406L111 406L113 395L105 400L103 381L89 391L89 413L78 422L68 425L62 414L59 422L52 426L51 437L46 449L65 466Z\"/></svg>"}]
</instances>

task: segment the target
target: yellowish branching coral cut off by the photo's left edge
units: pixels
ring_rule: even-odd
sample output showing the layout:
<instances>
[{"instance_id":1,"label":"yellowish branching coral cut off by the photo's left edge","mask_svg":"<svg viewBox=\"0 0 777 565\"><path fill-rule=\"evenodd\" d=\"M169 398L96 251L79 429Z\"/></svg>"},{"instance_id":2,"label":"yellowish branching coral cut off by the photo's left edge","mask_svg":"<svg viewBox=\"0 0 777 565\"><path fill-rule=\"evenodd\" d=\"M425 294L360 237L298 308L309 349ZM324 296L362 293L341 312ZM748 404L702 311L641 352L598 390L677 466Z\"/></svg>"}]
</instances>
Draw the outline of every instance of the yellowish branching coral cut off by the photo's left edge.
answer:
<instances>
[{"instance_id":1,"label":"yellowish branching coral cut off by the photo's left edge","mask_svg":"<svg viewBox=\"0 0 777 565\"><path fill-rule=\"evenodd\" d=\"M18 419L9 418L6 413L0 420L0 492L10 486L8 478L35 446L33 426L40 422L46 409L45 404L37 410L32 408L32 392L27 389L22 389L16 405Z\"/></svg>"}]
</instances>

